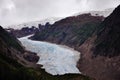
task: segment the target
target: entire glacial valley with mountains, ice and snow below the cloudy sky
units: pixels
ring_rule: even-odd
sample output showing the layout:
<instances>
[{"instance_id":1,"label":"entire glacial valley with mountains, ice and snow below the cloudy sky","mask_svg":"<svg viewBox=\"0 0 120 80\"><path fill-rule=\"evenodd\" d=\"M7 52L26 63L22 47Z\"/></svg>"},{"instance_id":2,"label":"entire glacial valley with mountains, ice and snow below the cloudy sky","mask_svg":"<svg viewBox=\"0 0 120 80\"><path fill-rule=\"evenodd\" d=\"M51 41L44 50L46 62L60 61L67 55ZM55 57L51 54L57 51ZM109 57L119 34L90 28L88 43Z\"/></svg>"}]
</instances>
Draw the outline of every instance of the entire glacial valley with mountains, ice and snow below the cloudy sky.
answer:
<instances>
[{"instance_id":1,"label":"entire glacial valley with mountains, ice and snow below the cloudy sky","mask_svg":"<svg viewBox=\"0 0 120 80\"><path fill-rule=\"evenodd\" d=\"M120 80L120 5L0 26L0 44L0 80Z\"/></svg>"}]
</instances>

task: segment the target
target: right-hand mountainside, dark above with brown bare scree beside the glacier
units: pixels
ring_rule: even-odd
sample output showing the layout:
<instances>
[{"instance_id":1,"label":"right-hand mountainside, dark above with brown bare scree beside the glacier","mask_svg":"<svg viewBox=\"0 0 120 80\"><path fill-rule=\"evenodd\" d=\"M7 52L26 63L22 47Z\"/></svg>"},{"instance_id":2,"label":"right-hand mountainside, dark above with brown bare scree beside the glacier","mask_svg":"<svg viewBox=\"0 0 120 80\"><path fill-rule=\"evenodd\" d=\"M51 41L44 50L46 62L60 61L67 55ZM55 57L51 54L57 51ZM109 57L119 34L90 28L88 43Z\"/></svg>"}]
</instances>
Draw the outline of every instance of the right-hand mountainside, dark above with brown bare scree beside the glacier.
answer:
<instances>
[{"instance_id":1,"label":"right-hand mountainside, dark above with brown bare scree beside the glacier","mask_svg":"<svg viewBox=\"0 0 120 80\"><path fill-rule=\"evenodd\" d=\"M120 80L120 6L80 47L81 72L97 80Z\"/></svg>"}]
</instances>

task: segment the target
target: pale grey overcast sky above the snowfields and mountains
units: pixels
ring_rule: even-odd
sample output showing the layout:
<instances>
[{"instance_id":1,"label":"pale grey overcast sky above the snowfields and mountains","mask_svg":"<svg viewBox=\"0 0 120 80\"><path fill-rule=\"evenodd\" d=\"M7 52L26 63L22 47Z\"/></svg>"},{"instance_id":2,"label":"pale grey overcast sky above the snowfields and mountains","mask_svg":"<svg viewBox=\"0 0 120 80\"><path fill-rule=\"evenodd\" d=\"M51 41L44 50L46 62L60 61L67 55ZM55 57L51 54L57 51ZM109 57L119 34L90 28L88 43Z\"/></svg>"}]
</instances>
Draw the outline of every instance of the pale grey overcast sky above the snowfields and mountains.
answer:
<instances>
[{"instance_id":1,"label":"pale grey overcast sky above the snowfields and mountains","mask_svg":"<svg viewBox=\"0 0 120 80\"><path fill-rule=\"evenodd\" d=\"M39 21L49 17L113 8L120 0L0 0L0 25Z\"/></svg>"}]
</instances>

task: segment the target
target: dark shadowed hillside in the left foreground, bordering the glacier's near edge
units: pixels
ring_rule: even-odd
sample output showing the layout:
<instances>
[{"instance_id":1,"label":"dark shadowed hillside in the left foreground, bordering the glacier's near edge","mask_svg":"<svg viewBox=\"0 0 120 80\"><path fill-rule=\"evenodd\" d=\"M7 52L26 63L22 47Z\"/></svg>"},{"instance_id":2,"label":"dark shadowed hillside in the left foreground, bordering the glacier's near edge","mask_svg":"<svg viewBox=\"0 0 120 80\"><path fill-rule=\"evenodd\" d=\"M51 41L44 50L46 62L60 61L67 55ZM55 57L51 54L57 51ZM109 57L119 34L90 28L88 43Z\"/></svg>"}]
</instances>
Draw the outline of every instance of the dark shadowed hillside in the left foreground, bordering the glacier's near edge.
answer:
<instances>
[{"instance_id":1,"label":"dark shadowed hillside in the left foreground, bordering the glacier's near edge","mask_svg":"<svg viewBox=\"0 0 120 80\"><path fill-rule=\"evenodd\" d=\"M0 80L94 80L80 74L50 75L36 64L38 60L0 26Z\"/></svg>"}]
</instances>

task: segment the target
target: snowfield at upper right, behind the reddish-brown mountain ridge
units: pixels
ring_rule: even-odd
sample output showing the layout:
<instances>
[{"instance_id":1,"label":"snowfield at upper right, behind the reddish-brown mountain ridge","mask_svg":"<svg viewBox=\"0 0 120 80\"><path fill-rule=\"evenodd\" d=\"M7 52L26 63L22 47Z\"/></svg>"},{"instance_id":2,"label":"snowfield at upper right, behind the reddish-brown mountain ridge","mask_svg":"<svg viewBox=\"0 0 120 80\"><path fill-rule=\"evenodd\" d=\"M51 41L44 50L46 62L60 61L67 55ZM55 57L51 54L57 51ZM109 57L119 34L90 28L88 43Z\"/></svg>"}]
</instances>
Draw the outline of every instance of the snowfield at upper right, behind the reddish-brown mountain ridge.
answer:
<instances>
[{"instance_id":1,"label":"snowfield at upper right, behind the reddish-brown mountain ridge","mask_svg":"<svg viewBox=\"0 0 120 80\"><path fill-rule=\"evenodd\" d=\"M114 8L109 8L109 9L105 9L105 10L102 10L102 11L86 11L86 12L77 13L74 16L81 15L81 14L84 14L84 13L91 13L91 15L93 15L93 16L107 17L113 12L113 10L114 10Z\"/></svg>"}]
</instances>

